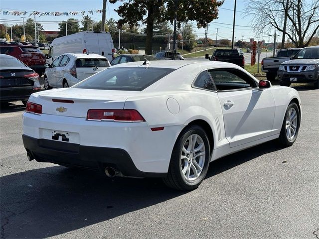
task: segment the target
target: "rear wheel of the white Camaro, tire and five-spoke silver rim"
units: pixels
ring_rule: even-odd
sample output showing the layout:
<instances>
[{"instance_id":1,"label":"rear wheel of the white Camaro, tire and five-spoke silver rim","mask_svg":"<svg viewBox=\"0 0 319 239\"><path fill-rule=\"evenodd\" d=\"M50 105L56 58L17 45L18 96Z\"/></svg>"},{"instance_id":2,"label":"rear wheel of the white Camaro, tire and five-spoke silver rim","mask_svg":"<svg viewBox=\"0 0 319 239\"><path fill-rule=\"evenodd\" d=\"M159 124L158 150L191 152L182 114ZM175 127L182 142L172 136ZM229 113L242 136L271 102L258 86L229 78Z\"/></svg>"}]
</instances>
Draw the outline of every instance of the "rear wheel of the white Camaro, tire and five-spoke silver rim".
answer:
<instances>
[{"instance_id":1,"label":"rear wheel of the white Camaro, tire and five-spoke silver rim","mask_svg":"<svg viewBox=\"0 0 319 239\"><path fill-rule=\"evenodd\" d=\"M164 183L178 190L196 189L206 176L209 159L205 131L198 125L186 127L175 142Z\"/></svg>"}]
</instances>

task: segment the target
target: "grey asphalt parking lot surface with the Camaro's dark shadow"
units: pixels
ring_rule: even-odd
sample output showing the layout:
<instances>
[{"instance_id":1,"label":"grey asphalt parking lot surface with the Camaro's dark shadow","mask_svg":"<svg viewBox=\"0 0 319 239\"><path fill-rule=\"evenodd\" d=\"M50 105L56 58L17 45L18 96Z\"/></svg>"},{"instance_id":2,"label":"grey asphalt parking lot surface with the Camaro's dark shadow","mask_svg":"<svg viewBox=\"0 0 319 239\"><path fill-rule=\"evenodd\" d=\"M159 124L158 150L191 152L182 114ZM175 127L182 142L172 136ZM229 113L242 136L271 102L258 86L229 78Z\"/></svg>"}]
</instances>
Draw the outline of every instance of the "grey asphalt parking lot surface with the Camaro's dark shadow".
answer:
<instances>
[{"instance_id":1,"label":"grey asphalt parking lot surface with the Camaro's dark shadow","mask_svg":"<svg viewBox=\"0 0 319 239\"><path fill-rule=\"evenodd\" d=\"M24 107L1 105L1 238L319 239L319 90L295 89L303 116L293 146L216 160L191 192L29 162Z\"/></svg>"}]
</instances>

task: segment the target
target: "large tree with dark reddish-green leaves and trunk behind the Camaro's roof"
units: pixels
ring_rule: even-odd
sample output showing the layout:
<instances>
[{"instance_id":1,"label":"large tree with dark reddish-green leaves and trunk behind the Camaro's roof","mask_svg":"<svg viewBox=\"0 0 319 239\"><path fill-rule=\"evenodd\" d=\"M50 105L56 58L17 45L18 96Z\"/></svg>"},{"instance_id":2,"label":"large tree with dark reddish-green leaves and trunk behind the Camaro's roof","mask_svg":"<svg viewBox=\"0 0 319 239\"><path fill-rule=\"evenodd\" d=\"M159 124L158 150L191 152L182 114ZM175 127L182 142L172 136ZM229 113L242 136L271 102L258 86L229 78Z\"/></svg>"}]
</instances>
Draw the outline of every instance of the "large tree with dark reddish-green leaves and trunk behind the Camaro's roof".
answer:
<instances>
[{"instance_id":1,"label":"large tree with dark reddish-green leaves and trunk behind the Camaro's roof","mask_svg":"<svg viewBox=\"0 0 319 239\"><path fill-rule=\"evenodd\" d=\"M115 3L118 0L110 0ZM154 23L174 19L176 0L128 0L116 9L121 19L118 21L119 27L128 23L131 27L138 26L140 23L146 24L146 54L152 54L152 41ZM197 21L197 27L206 27L213 19L217 18L218 6L224 0L183 0L177 1L178 27L182 22L191 20ZM203 4L205 3L205 4ZM134 9L134 11L132 10Z\"/></svg>"}]
</instances>

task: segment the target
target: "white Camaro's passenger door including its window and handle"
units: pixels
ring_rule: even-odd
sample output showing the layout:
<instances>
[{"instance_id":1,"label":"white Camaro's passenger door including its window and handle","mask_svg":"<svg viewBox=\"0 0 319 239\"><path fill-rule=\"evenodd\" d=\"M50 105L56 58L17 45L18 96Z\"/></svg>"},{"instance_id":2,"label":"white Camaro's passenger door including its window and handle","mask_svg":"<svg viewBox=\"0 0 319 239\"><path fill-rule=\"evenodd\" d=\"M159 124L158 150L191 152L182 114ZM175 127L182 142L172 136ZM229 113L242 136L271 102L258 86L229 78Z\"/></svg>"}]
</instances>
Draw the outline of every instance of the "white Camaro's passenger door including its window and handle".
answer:
<instances>
[{"instance_id":1,"label":"white Camaro's passenger door including its window and handle","mask_svg":"<svg viewBox=\"0 0 319 239\"><path fill-rule=\"evenodd\" d=\"M223 112L226 138L236 147L271 135L275 102L270 89L237 69L209 70Z\"/></svg>"}]
</instances>

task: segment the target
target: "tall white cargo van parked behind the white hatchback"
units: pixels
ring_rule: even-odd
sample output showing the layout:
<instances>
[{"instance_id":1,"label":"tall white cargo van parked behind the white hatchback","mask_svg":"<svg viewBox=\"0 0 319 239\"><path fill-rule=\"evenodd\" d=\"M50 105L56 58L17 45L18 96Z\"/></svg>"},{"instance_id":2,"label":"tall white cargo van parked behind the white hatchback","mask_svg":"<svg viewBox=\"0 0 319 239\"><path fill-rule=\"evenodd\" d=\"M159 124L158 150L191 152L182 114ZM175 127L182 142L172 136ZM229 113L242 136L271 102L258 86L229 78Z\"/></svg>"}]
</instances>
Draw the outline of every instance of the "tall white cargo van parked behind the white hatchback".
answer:
<instances>
[{"instance_id":1,"label":"tall white cargo van parked behind the white hatchback","mask_svg":"<svg viewBox=\"0 0 319 239\"><path fill-rule=\"evenodd\" d=\"M112 61L115 49L109 32L82 31L55 38L46 55L46 62L51 63L64 53L95 53Z\"/></svg>"}]
</instances>

